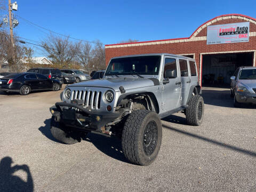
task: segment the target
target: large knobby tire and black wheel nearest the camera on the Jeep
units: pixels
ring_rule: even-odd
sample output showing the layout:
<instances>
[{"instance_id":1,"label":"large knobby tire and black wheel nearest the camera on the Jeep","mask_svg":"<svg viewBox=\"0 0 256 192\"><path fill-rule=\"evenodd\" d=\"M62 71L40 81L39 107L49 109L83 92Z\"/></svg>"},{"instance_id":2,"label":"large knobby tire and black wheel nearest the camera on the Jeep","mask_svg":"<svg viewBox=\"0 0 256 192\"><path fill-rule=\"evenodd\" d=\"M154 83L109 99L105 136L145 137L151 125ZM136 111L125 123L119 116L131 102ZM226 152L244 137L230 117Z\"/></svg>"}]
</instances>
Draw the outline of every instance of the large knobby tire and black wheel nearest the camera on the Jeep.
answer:
<instances>
[{"instance_id":1,"label":"large knobby tire and black wheel nearest the camera on the Jeep","mask_svg":"<svg viewBox=\"0 0 256 192\"><path fill-rule=\"evenodd\" d=\"M135 110L129 115L122 133L124 156L138 165L153 163L162 142L159 116L149 110Z\"/></svg>"}]
</instances>

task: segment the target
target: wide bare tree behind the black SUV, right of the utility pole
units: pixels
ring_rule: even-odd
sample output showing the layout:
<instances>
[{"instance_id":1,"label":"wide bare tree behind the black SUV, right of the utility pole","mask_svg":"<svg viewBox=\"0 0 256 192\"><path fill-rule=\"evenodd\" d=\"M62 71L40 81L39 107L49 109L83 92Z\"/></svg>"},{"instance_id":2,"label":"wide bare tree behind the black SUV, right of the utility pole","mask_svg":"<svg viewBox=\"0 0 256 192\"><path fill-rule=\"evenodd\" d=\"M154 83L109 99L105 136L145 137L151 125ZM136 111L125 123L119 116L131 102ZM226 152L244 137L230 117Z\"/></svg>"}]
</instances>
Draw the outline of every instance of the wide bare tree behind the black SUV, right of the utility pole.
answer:
<instances>
[{"instance_id":1,"label":"wide bare tree behind the black SUV, right of the utility pole","mask_svg":"<svg viewBox=\"0 0 256 192\"><path fill-rule=\"evenodd\" d=\"M60 36L49 35L42 41L42 46L53 63L61 65L61 67L68 67L72 65L77 53L77 45L69 41L69 38L62 38Z\"/></svg>"}]
</instances>

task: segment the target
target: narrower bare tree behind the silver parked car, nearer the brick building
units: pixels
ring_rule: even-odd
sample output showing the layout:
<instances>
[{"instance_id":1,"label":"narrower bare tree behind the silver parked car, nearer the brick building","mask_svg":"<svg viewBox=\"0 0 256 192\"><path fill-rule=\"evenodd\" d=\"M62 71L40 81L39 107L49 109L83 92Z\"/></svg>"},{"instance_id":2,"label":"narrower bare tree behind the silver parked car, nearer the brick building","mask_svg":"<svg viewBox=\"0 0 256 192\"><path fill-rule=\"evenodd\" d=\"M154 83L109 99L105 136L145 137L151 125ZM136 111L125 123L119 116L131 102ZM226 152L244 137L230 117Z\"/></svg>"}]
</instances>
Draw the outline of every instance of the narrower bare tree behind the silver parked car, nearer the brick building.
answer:
<instances>
[{"instance_id":1,"label":"narrower bare tree behind the silver parked car, nearer the brick building","mask_svg":"<svg viewBox=\"0 0 256 192\"><path fill-rule=\"evenodd\" d=\"M92 61L95 56L95 51L92 45L88 42L79 42L77 47L78 50L76 54L76 59L80 63L80 65L84 66L84 68L87 70L87 73L90 74L94 69Z\"/></svg>"}]
</instances>

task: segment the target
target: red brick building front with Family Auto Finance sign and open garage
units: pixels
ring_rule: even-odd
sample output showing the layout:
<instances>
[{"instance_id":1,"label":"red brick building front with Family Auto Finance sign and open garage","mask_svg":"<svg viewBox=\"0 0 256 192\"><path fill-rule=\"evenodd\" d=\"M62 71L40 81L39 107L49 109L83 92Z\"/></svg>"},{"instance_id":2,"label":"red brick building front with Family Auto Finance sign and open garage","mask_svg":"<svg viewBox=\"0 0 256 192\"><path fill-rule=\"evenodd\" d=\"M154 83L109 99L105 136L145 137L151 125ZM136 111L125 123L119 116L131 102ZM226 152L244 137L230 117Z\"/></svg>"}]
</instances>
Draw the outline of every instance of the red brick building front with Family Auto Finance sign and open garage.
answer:
<instances>
[{"instance_id":1,"label":"red brick building front with Family Auto Finance sign and open garage","mask_svg":"<svg viewBox=\"0 0 256 192\"><path fill-rule=\"evenodd\" d=\"M106 65L113 57L173 53L194 58L203 86L229 84L239 66L255 66L256 19L226 14L199 26L187 38L105 45Z\"/></svg>"}]
</instances>

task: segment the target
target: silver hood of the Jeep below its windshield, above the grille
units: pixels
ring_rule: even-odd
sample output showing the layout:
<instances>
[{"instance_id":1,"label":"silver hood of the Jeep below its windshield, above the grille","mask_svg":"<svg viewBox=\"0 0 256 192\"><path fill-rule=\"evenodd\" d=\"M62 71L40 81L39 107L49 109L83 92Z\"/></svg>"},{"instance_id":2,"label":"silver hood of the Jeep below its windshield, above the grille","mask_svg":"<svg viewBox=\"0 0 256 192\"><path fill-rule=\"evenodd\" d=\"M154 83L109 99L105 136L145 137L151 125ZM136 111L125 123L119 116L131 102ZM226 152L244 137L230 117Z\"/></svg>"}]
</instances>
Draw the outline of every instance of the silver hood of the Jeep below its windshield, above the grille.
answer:
<instances>
[{"instance_id":1,"label":"silver hood of the Jeep below its windshield, above the grille","mask_svg":"<svg viewBox=\"0 0 256 192\"><path fill-rule=\"evenodd\" d=\"M155 82L155 83L154 83ZM158 82L158 83L157 83ZM140 87L154 86L159 84L158 79L156 78L103 78L95 79L80 83L75 83L70 86L94 86L94 87L109 87L115 91L120 91L119 86L123 86L125 90L137 89Z\"/></svg>"}]
</instances>

